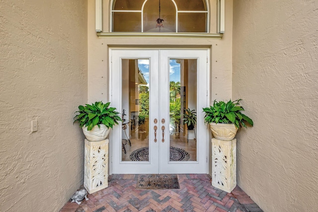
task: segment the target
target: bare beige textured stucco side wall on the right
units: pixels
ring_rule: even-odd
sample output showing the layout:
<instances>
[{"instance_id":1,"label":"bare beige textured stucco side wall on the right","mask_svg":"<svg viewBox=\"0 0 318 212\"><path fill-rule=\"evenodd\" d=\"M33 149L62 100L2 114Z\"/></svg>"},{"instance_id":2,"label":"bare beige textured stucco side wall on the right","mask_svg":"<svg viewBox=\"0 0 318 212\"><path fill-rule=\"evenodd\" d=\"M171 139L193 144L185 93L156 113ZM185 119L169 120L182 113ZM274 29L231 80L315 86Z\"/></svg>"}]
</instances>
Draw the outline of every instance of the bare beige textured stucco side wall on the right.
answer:
<instances>
[{"instance_id":1,"label":"bare beige textured stucco side wall on the right","mask_svg":"<svg viewBox=\"0 0 318 212\"><path fill-rule=\"evenodd\" d=\"M318 2L235 0L238 184L265 212L318 209Z\"/></svg>"}]
</instances>

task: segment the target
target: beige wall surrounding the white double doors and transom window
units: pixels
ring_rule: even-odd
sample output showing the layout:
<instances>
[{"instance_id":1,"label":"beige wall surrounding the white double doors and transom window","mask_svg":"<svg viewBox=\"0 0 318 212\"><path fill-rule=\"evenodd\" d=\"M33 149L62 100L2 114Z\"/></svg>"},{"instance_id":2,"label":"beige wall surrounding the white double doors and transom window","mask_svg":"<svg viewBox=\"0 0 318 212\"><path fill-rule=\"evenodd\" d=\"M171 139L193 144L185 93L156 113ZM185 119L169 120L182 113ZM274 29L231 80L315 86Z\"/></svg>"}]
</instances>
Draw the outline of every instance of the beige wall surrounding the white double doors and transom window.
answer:
<instances>
[{"instance_id":1,"label":"beige wall surrounding the white double doors and transom window","mask_svg":"<svg viewBox=\"0 0 318 212\"><path fill-rule=\"evenodd\" d=\"M210 0L210 31L216 33L216 2ZM111 0L103 0L103 32L109 32ZM210 99L232 96L232 0L226 0L226 33L221 40L206 38L98 38L95 32L95 2L88 2L88 102L109 101L109 47L182 48L208 47L210 53ZM110 139L111 140L111 139ZM207 141L210 143L209 141ZM111 141L109 143L112 148ZM209 147L208 147L209 148ZM111 154L110 154L111 157ZM209 165L211 167L211 165ZM211 172L211 169L210 169Z\"/></svg>"}]
</instances>

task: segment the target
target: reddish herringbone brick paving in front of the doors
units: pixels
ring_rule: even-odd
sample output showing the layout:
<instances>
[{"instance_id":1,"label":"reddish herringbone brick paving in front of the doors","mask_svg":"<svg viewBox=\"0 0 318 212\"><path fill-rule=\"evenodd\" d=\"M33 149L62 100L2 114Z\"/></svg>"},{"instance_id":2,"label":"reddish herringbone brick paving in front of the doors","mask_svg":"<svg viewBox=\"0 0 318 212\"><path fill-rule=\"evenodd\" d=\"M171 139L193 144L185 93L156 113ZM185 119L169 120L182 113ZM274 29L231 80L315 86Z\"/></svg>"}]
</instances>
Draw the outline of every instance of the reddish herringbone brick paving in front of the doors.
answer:
<instances>
[{"instance_id":1,"label":"reddish herringbone brick paving in front of the doors","mask_svg":"<svg viewBox=\"0 0 318 212\"><path fill-rule=\"evenodd\" d=\"M238 186L224 192L207 174L178 174L178 179L178 190L141 190L138 175L113 174L108 188L80 205L69 201L60 212L262 212Z\"/></svg>"}]
</instances>

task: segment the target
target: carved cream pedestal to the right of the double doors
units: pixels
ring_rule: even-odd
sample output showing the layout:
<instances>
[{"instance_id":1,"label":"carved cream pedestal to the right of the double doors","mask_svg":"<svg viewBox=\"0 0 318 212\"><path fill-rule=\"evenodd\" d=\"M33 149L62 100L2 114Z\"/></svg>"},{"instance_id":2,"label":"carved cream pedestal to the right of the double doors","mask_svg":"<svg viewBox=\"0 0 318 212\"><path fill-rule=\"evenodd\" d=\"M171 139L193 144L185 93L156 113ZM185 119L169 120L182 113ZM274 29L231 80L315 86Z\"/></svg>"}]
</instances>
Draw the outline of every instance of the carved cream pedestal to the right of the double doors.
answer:
<instances>
[{"instance_id":1,"label":"carved cream pedestal to the right of the double doors","mask_svg":"<svg viewBox=\"0 0 318 212\"><path fill-rule=\"evenodd\" d=\"M212 186L228 193L237 185L237 140L212 139Z\"/></svg>"}]
</instances>

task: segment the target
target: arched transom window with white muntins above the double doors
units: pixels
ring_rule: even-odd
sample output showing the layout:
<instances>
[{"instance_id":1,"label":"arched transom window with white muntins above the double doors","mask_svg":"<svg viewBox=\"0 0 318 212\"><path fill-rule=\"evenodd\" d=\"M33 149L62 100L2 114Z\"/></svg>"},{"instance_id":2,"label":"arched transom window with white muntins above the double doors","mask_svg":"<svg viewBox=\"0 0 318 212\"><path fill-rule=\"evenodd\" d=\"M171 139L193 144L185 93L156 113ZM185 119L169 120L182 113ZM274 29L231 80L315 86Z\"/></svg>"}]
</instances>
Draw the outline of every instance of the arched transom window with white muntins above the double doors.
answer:
<instances>
[{"instance_id":1,"label":"arched transom window with white muntins above the double doors","mask_svg":"<svg viewBox=\"0 0 318 212\"><path fill-rule=\"evenodd\" d=\"M192 32L208 29L206 0L114 0L112 32Z\"/></svg>"}]
</instances>

